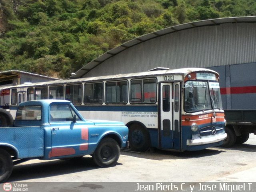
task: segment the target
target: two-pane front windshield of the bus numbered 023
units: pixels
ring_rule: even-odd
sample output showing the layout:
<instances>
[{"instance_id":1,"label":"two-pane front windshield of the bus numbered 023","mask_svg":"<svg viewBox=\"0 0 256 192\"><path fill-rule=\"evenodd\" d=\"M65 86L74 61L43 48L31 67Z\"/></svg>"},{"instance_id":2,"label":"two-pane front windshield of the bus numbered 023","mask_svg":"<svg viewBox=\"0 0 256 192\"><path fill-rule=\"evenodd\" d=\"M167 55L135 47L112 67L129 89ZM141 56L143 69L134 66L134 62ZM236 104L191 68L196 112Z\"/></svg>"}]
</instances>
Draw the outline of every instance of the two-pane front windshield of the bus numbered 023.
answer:
<instances>
[{"instance_id":1,"label":"two-pane front windshield of the bus numbered 023","mask_svg":"<svg viewBox=\"0 0 256 192\"><path fill-rule=\"evenodd\" d=\"M218 82L186 82L184 89L185 112L191 113L221 108L222 102L220 97L220 86Z\"/></svg>"}]
</instances>

